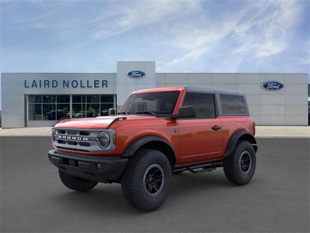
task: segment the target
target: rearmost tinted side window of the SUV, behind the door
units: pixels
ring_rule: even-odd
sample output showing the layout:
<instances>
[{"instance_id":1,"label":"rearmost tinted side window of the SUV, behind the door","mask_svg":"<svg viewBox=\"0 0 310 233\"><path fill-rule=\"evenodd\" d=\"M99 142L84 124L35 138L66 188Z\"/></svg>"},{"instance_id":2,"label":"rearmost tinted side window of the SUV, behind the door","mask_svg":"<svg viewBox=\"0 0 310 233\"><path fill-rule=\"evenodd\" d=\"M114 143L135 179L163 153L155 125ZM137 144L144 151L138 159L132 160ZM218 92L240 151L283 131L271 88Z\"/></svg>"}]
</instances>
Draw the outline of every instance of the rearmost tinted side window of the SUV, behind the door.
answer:
<instances>
[{"instance_id":1,"label":"rearmost tinted side window of the SUV, behind the door","mask_svg":"<svg viewBox=\"0 0 310 233\"><path fill-rule=\"evenodd\" d=\"M247 114L243 96L220 94L223 114Z\"/></svg>"}]
</instances>

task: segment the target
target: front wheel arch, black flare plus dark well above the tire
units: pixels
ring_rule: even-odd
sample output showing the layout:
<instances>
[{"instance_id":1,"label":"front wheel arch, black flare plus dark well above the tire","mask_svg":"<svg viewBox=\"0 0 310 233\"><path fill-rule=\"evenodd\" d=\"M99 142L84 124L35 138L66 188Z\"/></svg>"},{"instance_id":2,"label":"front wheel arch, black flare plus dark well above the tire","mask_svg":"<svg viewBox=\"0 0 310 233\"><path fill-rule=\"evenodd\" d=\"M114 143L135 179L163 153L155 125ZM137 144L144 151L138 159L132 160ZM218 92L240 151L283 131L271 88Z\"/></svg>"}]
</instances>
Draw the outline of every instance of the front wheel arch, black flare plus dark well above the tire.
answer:
<instances>
[{"instance_id":1,"label":"front wheel arch, black flare plus dark well above the tire","mask_svg":"<svg viewBox=\"0 0 310 233\"><path fill-rule=\"evenodd\" d=\"M121 157L130 157L139 149L160 150L167 156L171 166L176 163L176 154L171 144L157 136L143 136L136 139L124 150Z\"/></svg>"}]
</instances>

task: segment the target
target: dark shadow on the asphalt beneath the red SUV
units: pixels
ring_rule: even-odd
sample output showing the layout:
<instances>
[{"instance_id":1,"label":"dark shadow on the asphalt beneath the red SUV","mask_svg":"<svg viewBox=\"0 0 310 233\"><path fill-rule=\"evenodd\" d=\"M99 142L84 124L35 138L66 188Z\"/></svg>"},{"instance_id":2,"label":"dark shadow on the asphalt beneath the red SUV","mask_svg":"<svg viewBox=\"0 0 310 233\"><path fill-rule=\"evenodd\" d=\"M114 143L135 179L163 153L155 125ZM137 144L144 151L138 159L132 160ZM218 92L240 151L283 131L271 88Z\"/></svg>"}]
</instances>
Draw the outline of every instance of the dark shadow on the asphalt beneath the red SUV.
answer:
<instances>
[{"instance_id":1,"label":"dark shadow on the asphalt beneath the red SUV","mask_svg":"<svg viewBox=\"0 0 310 233\"><path fill-rule=\"evenodd\" d=\"M214 172L215 173L215 172ZM172 186L169 193L169 198L165 206L174 206L190 199L191 195L195 198L196 195L206 195L211 190L225 189L228 186L235 186L229 183L222 172L216 174L192 174L184 172L182 174L173 175ZM99 183L93 190L88 192L76 192L63 188L61 192L53 194L50 197L56 205L67 206L68 208L79 208L83 211L93 213L115 213L118 214L137 214L142 212L130 207L124 200L121 185L117 183L102 184Z\"/></svg>"}]
</instances>

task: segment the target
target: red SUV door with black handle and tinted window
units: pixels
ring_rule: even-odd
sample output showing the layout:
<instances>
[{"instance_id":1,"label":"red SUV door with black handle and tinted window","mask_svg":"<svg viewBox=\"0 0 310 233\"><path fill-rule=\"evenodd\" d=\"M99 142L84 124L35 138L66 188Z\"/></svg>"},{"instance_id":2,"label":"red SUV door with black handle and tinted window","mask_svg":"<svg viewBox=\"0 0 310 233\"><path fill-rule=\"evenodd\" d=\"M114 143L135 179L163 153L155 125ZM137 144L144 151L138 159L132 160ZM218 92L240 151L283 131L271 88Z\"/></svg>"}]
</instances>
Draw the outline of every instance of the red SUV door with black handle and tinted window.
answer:
<instances>
[{"instance_id":1,"label":"red SUV door with black handle and tinted window","mask_svg":"<svg viewBox=\"0 0 310 233\"><path fill-rule=\"evenodd\" d=\"M186 93L182 106L191 105L195 106L196 117L177 120L180 165L222 158L222 123L216 114L214 94Z\"/></svg>"}]
</instances>

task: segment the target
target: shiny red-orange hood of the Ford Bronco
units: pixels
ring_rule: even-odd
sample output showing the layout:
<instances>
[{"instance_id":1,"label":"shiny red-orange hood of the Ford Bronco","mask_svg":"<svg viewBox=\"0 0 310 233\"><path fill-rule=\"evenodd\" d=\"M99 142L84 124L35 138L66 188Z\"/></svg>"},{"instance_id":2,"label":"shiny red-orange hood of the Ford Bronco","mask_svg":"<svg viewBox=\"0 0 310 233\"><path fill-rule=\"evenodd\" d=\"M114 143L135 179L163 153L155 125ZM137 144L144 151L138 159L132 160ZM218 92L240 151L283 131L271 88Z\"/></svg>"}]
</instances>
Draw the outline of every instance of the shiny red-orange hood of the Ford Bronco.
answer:
<instances>
[{"instance_id":1,"label":"shiny red-orange hood of the Ford Bronco","mask_svg":"<svg viewBox=\"0 0 310 233\"><path fill-rule=\"evenodd\" d=\"M119 117L126 117L130 119L145 119L155 118L155 116L141 116L141 115L116 115L116 116L98 116L95 118L73 118L63 119L58 122L55 127L59 128L76 128L76 129L107 129L112 121Z\"/></svg>"}]
</instances>

